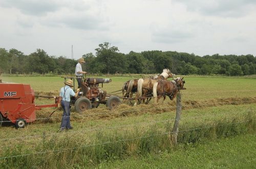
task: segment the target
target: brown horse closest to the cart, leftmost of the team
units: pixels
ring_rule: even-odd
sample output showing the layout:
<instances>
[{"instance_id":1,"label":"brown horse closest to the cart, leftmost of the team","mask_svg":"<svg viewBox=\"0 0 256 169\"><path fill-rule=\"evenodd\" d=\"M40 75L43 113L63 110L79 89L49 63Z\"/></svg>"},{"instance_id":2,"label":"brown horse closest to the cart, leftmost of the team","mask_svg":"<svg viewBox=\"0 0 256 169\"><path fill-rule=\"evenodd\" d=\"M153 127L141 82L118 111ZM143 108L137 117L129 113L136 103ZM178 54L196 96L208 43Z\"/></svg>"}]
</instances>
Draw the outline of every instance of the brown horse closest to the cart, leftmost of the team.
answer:
<instances>
[{"instance_id":1,"label":"brown horse closest to the cart, leftmost of the team","mask_svg":"<svg viewBox=\"0 0 256 169\"><path fill-rule=\"evenodd\" d=\"M138 79L129 80L125 82L122 87L123 98L132 98L133 94L137 92L137 87ZM125 94L124 91L126 91ZM131 99L129 99L129 103L130 105L132 104Z\"/></svg>"}]
</instances>

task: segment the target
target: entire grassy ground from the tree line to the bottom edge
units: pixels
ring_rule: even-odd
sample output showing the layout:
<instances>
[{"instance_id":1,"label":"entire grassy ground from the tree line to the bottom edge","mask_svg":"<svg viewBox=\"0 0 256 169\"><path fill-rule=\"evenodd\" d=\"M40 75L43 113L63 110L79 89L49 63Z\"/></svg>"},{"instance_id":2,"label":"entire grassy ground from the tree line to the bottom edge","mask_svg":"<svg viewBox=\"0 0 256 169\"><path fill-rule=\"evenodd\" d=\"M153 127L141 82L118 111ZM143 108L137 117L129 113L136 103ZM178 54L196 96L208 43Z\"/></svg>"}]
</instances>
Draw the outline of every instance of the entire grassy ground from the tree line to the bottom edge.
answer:
<instances>
[{"instance_id":1,"label":"entire grassy ground from the tree line to the bottom edge","mask_svg":"<svg viewBox=\"0 0 256 169\"><path fill-rule=\"evenodd\" d=\"M58 93L63 86L63 79L60 77L2 77L2 79L30 84L35 91L43 92ZM121 89L123 83L130 79L112 77L112 82L103 84L103 89L108 92ZM2 126L0 128L1 139L13 137L16 139L2 140L0 156L50 152L6 160L0 159L0 167L134 168L138 165L139 168L156 168L157 166L160 168L172 166L178 166L178 168L241 168L241 166L251 168L254 166L255 148L253 149L252 146L255 144L255 135L248 133L255 133L256 130L256 103L239 103L239 105L231 103L231 105L223 106L216 103L217 101L228 102L236 99L244 101L247 98L255 98L256 79L185 77L184 80L187 88L182 90L184 106L209 103L215 105L201 108L185 107L186 109L182 110L179 146L175 149L170 144L169 135L162 134L172 131L175 119L175 109L162 107L175 106L174 101L166 100L163 105L150 104L137 107L121 105L112 111L101 105L98 109L84 112L83 116L72 117L71 124L74 130L71 132L57 133L61 118L54 118L50 123L37 120L25 129L19 130L14 129L12 125ZM39 98L35 102L50 104L53 100ZM53 108L46 108L37 111L37 117L47 117L52 110ZM56 111L53 117L61 117L61 113L61 111ZM75 113L72 108L72 115L79 114ZM150 137L143 138L143 136ZM244 142L241 142L239 138L243 136L246 138ZM137 137L142 138L134 139ZM132 140L118 141L125 139ZM109 141L112 143L52 152ZM245 145L241 146L243 143ZM246 145L247 147L244 148ZM160 159L163 159L163 162Z\"/></svg>"}]
</instances>

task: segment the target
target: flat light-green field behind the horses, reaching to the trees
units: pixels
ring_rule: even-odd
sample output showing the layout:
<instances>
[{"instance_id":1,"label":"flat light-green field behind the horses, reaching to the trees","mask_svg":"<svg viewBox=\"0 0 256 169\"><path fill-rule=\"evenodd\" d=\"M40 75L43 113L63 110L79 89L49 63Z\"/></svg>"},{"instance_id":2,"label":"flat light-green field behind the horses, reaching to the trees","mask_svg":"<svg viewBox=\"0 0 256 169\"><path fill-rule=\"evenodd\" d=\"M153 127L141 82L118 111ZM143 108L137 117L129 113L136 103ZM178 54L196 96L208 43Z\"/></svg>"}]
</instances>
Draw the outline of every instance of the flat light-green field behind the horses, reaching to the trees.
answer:
<instances>
[{"instance_id":1,"label":"flat light-green field behind the horses, reaching to the trees","mask_svg":"<svg viewBox=\"0 0 256 169\"><path fill-rule=\"evenodd\" d=\"M108 77L109 84L103 84L108 93L122 88L129 77ZM3 81L30 84L35 91L58 92L63 86L60 77L2 77ZM185 77L186 90L182 90L184 101L203 101L220 98L248 98L256 96L256 79ZM101 86L101 85L100 85Z\"/></svg>"}]
</instances>

